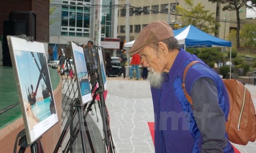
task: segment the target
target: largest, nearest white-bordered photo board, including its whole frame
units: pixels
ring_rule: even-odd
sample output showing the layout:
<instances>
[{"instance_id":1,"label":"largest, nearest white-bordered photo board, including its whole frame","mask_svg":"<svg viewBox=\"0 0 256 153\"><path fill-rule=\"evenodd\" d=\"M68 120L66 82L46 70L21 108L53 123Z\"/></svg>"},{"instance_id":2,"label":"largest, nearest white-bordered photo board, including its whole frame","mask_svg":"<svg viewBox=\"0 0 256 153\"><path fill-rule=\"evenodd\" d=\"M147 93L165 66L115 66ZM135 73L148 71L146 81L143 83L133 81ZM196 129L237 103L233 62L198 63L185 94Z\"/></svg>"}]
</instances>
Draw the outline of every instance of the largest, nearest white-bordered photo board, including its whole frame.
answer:
<instances>
[{"instance_id":1,"label":"largest, nearest white-bordered photo board, including its whole frame","mask_svg":"<svg viewBox=\"0 0 256 153\"><path fill-rule=\"evenodd\" d=\"M7 36L28 144L58 122L43 43Z\"/></svg>"}]
</instances>

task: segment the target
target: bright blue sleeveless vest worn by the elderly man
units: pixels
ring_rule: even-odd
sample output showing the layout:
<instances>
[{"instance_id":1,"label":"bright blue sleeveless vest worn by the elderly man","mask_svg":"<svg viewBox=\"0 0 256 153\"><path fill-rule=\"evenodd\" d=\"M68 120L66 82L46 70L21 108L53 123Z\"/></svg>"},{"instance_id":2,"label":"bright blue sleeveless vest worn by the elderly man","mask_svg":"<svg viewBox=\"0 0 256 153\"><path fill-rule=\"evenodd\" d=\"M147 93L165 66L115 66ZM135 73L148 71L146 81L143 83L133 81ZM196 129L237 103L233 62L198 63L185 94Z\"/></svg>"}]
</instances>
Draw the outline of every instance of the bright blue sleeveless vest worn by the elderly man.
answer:
<instances>
[{"instance_id":1,"label":"bright blue sleeveless vest worn by the elderly man","mask_svg":"<svg viewBox=\"0 0 256 153\"><path fill-rule=\"evenodd\" d=\"M184 96L181 87L185 67L195 55L180 49L169 74L164 74L161 89L151 88L155 119L155 151L156 153L200 153L202 135L193 117L191 104ZM190 95L192 86L198 79L208 77L215 82L218 91L219 106L226 121L229 112L228 94L219 75L204 62L189 68L185 80L187 93ZM227 134L225 135L228 139ZM228 142L224 153L232 153L233 148Z\"/></svg>"}]
</instances>

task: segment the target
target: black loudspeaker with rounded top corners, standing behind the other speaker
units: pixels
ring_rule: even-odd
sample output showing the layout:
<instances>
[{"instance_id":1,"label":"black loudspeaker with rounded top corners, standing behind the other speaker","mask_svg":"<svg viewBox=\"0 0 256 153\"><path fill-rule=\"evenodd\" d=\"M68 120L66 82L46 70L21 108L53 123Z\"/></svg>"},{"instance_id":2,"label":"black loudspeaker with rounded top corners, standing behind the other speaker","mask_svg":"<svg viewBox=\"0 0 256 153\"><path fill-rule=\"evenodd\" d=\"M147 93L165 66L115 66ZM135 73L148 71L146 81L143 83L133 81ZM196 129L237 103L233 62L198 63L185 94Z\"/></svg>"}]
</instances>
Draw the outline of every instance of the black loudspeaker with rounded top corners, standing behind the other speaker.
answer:
<instances>
[{"instance_id":1,"label":"black loudspeaker with rounded top corners, standing behind the other speaker","mask_svg":"<svg viewBox=\"0 0 256 153\"><path fill-rule=\"evenodd\" d=\"M20 20L27 22L26 36L33 36L36 40L36 14L33 11L13 11L9 14L9 20Z\"/></svg>"}]
</instances>

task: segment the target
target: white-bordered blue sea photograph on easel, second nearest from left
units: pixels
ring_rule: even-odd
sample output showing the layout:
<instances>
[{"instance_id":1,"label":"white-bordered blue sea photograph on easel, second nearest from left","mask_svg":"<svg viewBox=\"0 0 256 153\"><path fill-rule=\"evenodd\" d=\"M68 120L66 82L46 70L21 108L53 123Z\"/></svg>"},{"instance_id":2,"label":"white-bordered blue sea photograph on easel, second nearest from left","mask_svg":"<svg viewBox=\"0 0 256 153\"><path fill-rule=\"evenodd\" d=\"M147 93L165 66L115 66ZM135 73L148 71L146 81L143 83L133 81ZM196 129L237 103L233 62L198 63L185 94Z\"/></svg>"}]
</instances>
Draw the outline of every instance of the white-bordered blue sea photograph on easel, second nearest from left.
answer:
<instances>
[{"instance_id":1,"label":"white-bordered blue sea photograph on easel, second nearest from left","mask_svg":"<svg viewBox=\"0 0 256 153\"><path fill-rule=\"evenodd\" d=\"M82 47L71 42L72 57L75 68L76 83L78 85L78 95L81 105L92 100L91 89L89 83L88 71L86 68L86 61L84 50Z\"/></svg>"}]
</instances>

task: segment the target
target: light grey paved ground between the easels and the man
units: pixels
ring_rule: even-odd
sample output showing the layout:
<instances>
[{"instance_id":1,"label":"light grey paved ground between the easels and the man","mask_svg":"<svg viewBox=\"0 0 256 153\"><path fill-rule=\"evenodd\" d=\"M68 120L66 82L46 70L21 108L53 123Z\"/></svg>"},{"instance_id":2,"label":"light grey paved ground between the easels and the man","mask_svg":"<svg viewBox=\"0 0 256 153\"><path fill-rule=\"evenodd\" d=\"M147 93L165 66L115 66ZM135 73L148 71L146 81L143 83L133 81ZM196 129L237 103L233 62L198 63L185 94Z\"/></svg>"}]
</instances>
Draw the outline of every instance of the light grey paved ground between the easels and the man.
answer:
<instances>
[{"instance_id":1,"label":"light grey paved ground between the easels and the man","mask_svg":"<svg viewBox=\"0 0 256 153\"><path fill-rule=\"evenodd\" d=\"M256 86L247 85L252 93L254 105L256 106ZM112 137L115 145L115 153L154 153L154 144L148 128L148 122L154 121L154 112L151 99L150 85L148 81L128 80L122 78L107 78L108 95L106 106L110 115ZM103 135L102 122L98 110L98 104L93 107L93 114L88 117L94 121L93 126L98 130L93 133ZM97 115L98 114L98 115ZM99 121L97 122L96 118ZM89 118L88 118L89 119ZM94 125L95 124L95 125ZM95 132L96 131L96 132ZM102 145L102 142L98 142ZM256 153L256 142L247 146L236 145L241 153ZM80 145L73 152L80 152ZM104 152L102 148L98 150Z\"/></svg>"}]
</instances>

